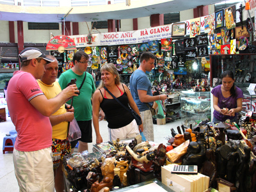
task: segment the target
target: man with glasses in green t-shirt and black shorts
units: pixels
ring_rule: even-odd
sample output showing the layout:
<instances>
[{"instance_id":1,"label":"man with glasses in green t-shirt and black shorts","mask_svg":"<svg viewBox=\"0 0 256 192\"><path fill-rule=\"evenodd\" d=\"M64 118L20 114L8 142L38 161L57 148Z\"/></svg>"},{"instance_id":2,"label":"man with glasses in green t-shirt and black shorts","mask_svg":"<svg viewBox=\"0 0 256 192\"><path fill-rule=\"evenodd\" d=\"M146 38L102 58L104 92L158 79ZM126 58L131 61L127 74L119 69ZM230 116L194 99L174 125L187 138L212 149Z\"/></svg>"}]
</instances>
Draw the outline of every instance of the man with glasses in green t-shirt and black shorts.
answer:
<instances>
[{"instance_id":1,"label":"man with glasses in green t-shirt and black shorts","mask_svg":"<svg viewBox=\"0 0 256 192\"><path fill-rule=\"evenodd\" d=\"M91 97L95 92L95 84L91 74L86 72L88 67L89 56L84 51L77 51L73 57L74 67L63 72L60 76L59 83L61 89L67 87L71 79L76 79L77 88L80 88L81 84L83 86L80 88L80 95L74 97L73 106L75 109L75 118L77 124L81 129L82 136L79 139L78 152L88 150L88 143L92 143L92 102ZM85 79L84 79L84 76ZM70 104L70 100L67 102ZM77 140L71 141L71 152L74 152L74 147L76 147Z\"/></svg>"}]
</instances>

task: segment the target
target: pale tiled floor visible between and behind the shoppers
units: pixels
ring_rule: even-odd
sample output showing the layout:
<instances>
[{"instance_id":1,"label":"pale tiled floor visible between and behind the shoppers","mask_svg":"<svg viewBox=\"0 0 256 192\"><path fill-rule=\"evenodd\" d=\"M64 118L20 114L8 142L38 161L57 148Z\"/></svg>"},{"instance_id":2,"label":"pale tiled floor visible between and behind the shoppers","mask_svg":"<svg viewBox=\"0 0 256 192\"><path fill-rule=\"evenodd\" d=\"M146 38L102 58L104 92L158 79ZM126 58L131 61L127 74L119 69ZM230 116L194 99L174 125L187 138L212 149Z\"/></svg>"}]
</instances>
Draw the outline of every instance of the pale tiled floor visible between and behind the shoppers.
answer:
<instances>
[{"instance_id":1,"label":"pale tiled floor visible between and behind the shoppers","mask_svg":"<svg viewBox=\"0 0 256 192\"><path fill-rule=\"evenodd\" d=\"M170 129L174 128L177 131L176 127L180 125L180 120L175 122L168 122L166 125L154 125L154 137L156 143L166 143L167 140L164 139L166 136L171 136ZM108 141L108 122L100 122L100 134L103 138L103 141ZM3 138L11 130L15 129L12 124L10 117L7 117L6 122L0 123L0 148L3 148ZM89 152L92 152L92 145L95 144L95 132L93 131L93 143L89 145ZM0 152L0 186L1 191L19 191L19 186L15 178L12 152Z\"/></svg>"}]
</instances>

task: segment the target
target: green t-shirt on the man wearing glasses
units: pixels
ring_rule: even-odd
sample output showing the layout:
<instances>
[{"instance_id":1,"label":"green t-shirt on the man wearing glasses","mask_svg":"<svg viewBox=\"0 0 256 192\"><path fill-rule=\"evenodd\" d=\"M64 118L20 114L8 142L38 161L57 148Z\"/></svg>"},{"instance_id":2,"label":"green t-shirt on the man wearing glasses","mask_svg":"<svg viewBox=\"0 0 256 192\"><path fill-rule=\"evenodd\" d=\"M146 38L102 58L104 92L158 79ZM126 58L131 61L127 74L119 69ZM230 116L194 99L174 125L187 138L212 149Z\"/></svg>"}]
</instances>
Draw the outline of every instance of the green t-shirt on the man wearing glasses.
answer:
<instances>
[{"instance_id":1,"label":"green t-shirt on the man wearing glasses","mask_svg":"<svg viewBox=\"0 0 256 192\"><path fill-rule=\"evenodd\" d=\"M85 74L85 73L84 73ZM83 82L84 74L78 76L71 69L63 72L60 75L59 83L61 89L65 89L67 84L70 83L71 79L76 79L77 88L79 88ZM91 74L86 72L86 78L84 84L80 90L80 95L73 97L73 106L75 109L75 118L77 121L88 121L92 119L92 94L95 92L95 84ZM71 99L68 100L68 104L71 103Z\"/></svg>"}]
</instances>

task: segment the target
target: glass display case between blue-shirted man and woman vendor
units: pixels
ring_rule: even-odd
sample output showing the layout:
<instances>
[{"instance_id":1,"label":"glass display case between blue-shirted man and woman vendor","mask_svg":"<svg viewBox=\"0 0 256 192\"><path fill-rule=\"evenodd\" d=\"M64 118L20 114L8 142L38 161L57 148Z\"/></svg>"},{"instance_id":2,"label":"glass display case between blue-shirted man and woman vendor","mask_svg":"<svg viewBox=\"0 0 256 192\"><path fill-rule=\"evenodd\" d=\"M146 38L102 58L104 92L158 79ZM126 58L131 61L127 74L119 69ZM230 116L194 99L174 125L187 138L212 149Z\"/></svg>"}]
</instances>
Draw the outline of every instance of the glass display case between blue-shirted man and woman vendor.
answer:
<instances>
[{"instance_id":1,"label":"glass display case between blue-shirted man and woman vendor","mask_svg":"<svg viewBox=\"0 0 256 192\"><path fill-rule=\"evenodd\" d=\"M202 120L211 121L211 92L182 91L180 96L181 122L192 127Z\"/></svg>"}]
</instances>

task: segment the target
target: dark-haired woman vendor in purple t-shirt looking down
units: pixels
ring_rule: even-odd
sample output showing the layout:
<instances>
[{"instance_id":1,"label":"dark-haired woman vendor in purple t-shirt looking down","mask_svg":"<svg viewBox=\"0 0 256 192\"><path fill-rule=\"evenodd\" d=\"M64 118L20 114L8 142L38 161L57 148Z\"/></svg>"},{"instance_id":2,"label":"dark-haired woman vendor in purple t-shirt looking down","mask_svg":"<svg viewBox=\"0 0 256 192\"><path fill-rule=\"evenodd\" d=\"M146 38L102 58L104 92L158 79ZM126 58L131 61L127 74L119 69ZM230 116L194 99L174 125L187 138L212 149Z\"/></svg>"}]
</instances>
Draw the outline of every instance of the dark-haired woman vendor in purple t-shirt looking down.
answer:
<instances>
[{"instance_id":1,"label":"dark-haired woman vendor in purple t-shirt looking down","mask_svg":"<svg viewBox=\"0 0 256 192\"><path fill-rule=\"evenodd\" d=\"M213 120L212 122L225 122L230 119L236 121L237 113L242 110L243 92L234 84L234 73L226 70L221 74L222 84L212 89Z\"/></svg>"}]
</instances>

